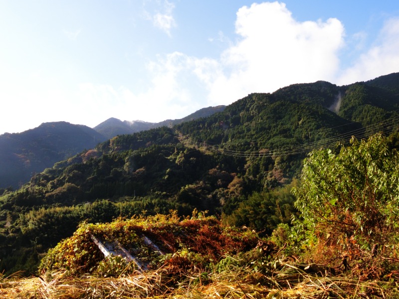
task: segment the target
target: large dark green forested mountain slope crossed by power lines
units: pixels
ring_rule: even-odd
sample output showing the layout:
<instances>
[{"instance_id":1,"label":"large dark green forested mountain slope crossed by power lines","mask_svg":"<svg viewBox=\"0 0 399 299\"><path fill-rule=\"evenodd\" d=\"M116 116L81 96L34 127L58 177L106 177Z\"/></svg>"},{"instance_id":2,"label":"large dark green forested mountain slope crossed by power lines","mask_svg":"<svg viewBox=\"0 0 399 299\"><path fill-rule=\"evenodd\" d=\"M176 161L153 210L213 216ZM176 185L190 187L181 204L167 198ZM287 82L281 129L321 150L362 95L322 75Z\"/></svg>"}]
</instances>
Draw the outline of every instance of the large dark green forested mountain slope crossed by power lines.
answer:
<instances>
[{"instance_id":1,"label":"large dark green forested mountain slope crossed by power lines","mask_svg":"<svg viewBox=\"0 0 399 299\"><path fill-rule=\"evenodd\" d=\"M34 271L79 222L194 208L270 234L297 215L290 193L312 149L383 131L398 138L399 74L256 93L173 127L120 135L0 196L0 271Z\"/></svg>"}]
</instances>

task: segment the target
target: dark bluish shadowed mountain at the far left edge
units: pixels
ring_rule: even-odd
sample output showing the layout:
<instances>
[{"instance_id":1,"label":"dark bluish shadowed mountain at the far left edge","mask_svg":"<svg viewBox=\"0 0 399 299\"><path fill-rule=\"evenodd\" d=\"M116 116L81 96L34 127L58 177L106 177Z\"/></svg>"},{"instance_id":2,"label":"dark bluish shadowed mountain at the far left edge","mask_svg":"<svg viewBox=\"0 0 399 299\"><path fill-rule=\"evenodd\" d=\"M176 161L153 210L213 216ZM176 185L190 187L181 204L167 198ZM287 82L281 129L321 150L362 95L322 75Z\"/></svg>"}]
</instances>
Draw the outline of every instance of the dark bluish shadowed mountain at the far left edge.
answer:
<instances>
[{"instance_id":1,"label":"dark bluish shadowed mountain at the far left edge","mask_svg":"<svg viewBox=\"0 0 399 299\"><path fill-rule=\"evenodd\" d=\"M44 123L22 133L0 135L0 187L16 189L34 173L104 140L89 127L66 122Z\"/></svg>"}]
</instances>

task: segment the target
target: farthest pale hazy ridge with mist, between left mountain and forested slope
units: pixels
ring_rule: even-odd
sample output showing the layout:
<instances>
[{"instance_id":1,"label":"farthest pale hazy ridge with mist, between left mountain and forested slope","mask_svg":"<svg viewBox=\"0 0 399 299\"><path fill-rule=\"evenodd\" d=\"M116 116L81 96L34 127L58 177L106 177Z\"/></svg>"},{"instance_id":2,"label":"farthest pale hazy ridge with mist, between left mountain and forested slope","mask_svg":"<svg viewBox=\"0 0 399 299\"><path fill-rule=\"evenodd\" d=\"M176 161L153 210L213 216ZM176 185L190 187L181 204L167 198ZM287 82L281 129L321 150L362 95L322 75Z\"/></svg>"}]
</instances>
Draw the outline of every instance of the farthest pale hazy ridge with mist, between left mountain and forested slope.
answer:
<instances>
[{"instance_id":1,"label":"farthest pale hazy ridge with mist, between left mountain and forested slope","mask_svg":"<svg viewBox=\"0 0 399 299\"><path fill-rule=\"evenodd\" d=\"M207 108L202 108L189 116L186 116L182 119L178 120L166 120L160 123L149 123L149 122L144 122L144 121L121 121L116 118L110 118L101 124L97 125L93 129L96 130L98 133L100 133L103 136L106 136L107 138L112 138L117 135L123 135L123 134L133 134L141 131L146 131L150 129L155 129L159 127L171 127L183 122L189 122L192 120L196 120L199 118L207 117L210 115L213 115L217 112L223 111L225 106L220 105L216 107L207 107Z\"/></svg>"}]
</instances>

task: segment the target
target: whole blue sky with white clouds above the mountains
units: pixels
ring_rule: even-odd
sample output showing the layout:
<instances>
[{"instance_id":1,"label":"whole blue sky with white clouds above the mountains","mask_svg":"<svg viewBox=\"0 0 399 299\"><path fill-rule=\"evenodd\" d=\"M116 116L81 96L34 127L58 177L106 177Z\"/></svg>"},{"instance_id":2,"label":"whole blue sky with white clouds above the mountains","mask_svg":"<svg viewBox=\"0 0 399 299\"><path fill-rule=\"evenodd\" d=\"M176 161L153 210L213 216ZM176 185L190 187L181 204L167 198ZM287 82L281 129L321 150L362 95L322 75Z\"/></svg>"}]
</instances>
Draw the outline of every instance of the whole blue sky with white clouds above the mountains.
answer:
<instances>
[{"instance_id":1,"label":"whole blue sky with white clouds above the mountains","mask_svg":"<svg viewBox=\"0 0 399 299\"><path fill-rule=\"evenodd\" d=\"M0 0L0 134L394 72L397 0Z\"/></svg>"}]
</instances>

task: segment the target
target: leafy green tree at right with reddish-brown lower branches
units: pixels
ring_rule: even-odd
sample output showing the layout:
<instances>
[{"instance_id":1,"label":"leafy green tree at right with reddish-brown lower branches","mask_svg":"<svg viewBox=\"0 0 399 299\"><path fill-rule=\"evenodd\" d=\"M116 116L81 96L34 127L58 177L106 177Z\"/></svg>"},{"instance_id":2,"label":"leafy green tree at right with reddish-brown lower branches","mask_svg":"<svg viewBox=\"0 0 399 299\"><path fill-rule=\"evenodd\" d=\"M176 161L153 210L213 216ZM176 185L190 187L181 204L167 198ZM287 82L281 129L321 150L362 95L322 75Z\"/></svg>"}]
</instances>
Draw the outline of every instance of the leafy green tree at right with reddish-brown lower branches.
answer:
<instances>
[{"instance_id":1,"label":"leafy green tree at right with reddish-brown lower branches","mask_svg":"<svg viewBox=\"0 0 399 299\"><path fill-rule=\"evenodd\" d=\"M370 274L377 259L399 262L399 154L381 134L351 144L309 155L295 206L319 245L335 248L331 258L343 257L345 268L356 260Z\"/></svg>"}]
</instances>

